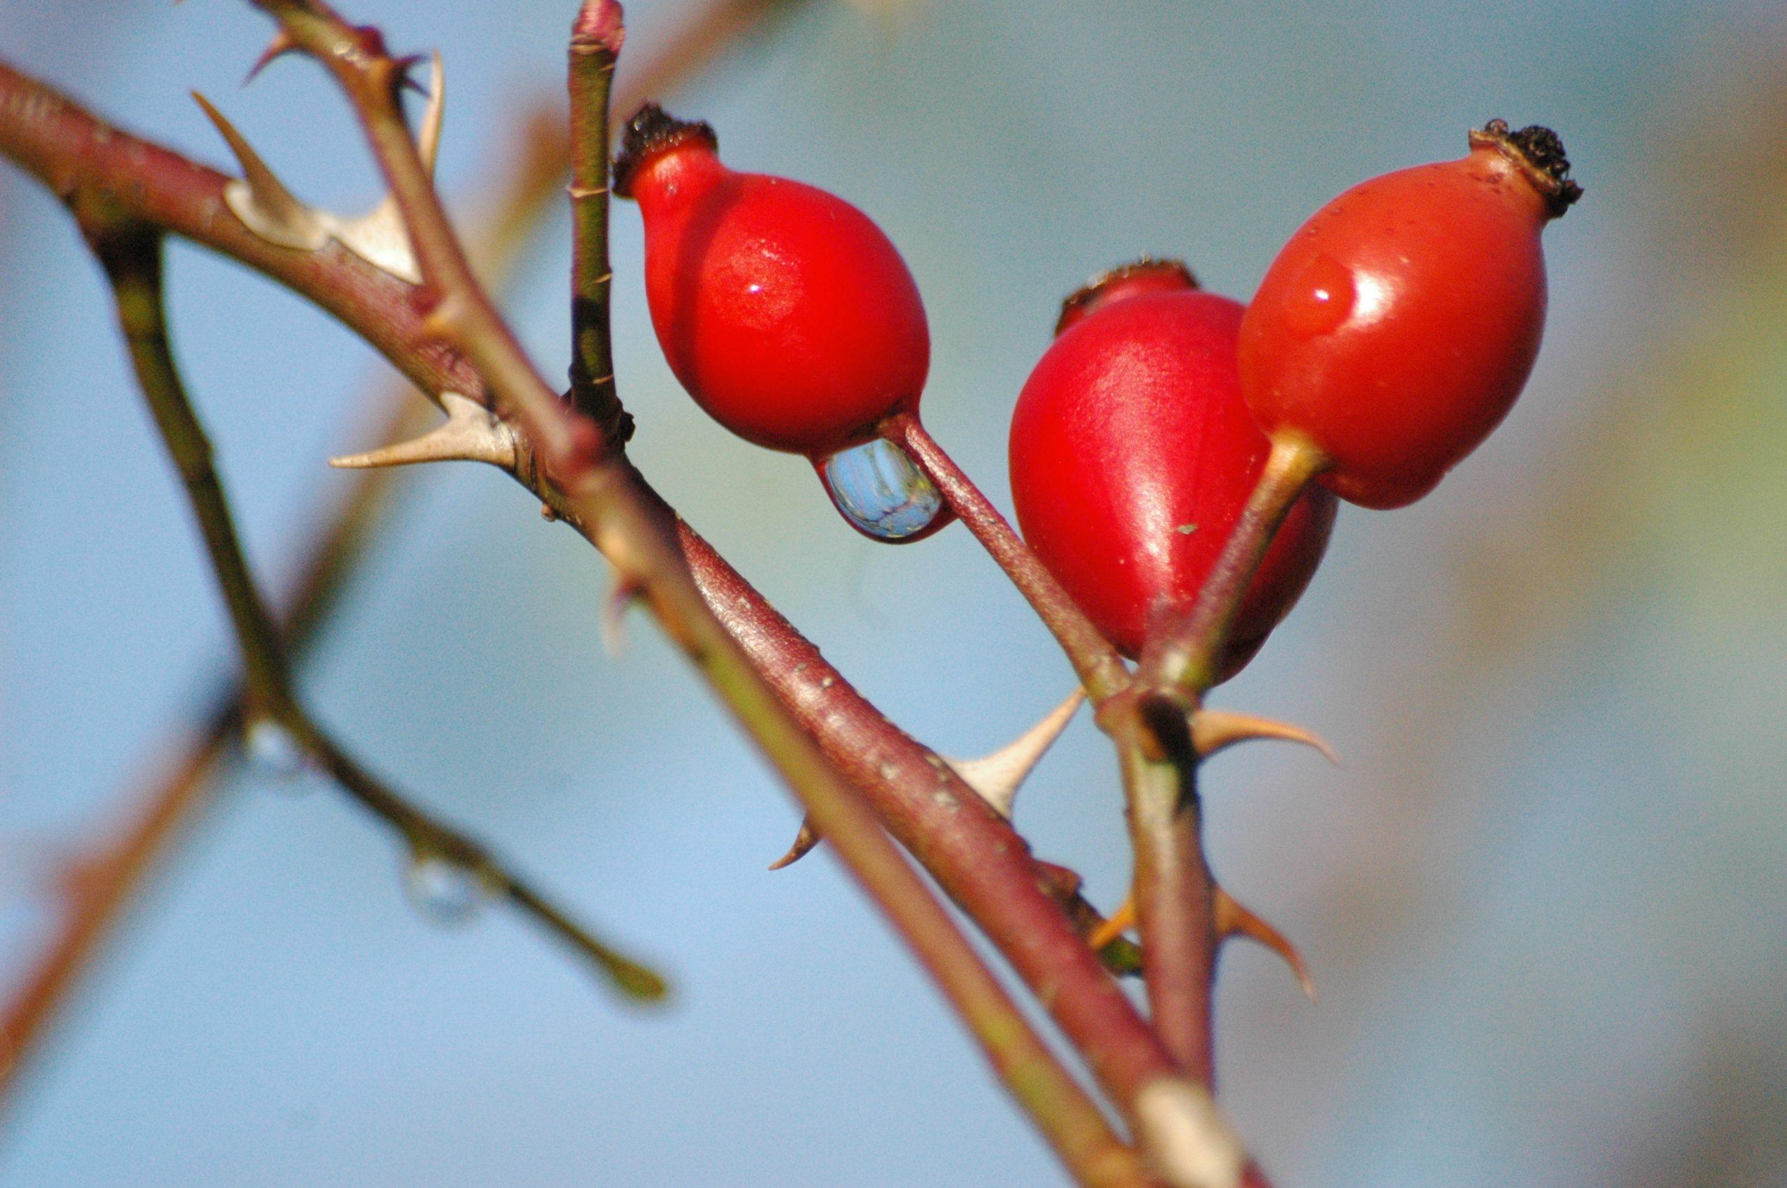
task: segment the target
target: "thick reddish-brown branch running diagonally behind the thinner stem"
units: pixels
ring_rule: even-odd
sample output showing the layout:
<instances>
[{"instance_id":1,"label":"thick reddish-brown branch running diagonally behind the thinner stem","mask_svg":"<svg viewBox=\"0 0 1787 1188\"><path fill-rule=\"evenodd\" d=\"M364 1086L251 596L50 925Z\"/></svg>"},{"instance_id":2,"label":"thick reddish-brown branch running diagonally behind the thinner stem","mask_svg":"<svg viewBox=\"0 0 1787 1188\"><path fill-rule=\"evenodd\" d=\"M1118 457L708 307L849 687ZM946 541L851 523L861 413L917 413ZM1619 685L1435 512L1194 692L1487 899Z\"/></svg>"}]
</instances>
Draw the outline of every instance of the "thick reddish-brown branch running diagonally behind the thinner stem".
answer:
<instances>
[{"instance_id":1,"label":"thick reddish-brown branch running diagonally behind the thinner stem","mask_svg":"<svg viewBox=\"0 0 1787 1188\"><path fill-rule=\"evenodd\" d=\"M431 393L481 391L477 375L454 352L418 343L422 302L418 291L377 272L354 255L331 248L318 254L266 245L248 234L222 204L222 173L100 123L89 113L36 80L0 64L0 152L38 173L57 193L100 188L113 200L147 222L157 222L204 247L220 250L263 272L334 313L372 341L413 382ZM520 475L536 493L550 493L531 468ZM761 598L727 600L724 591L740 582L692 536L681 531L688 565L726 620L727 627L756 654L788 648L810 650ZM947 802L967 804L972 790L942 772L942 761L899 734L872 706L851 691L822 659L802 666L792 661L767 672L786 702L810 707L806 727L833 756L867 756L863 732L886 731L897 741L892 777L860 765L852 777L877 797L877 807L899 800L908 824L901 836L1019 966L1040 1000L1061 1022L1076 1045L1094 1056L1101 1081L1117 1102L1133 1109L1137 1088L1162 1084L1172 1072L1158 1040L1117 995L1110 977L1086 963L1078 950L1060 908L1038 893L1035 865L1010 825L983 811L951 811L935 788L949 791ZM908 761L910 759L910 761ZM922 766L919 766L922 765ZM895 786L897 784L897 786ZM885 807L883 807L885 811ZM931 838L933 841L915 841ZM1022 861L1015 861L1022 858ZM963 886L979 890L963 891ZM1074 956L1049 956L1051 950ZM1060 961L1060 965L1053 965Z\"/></svg>"}]
</instances>

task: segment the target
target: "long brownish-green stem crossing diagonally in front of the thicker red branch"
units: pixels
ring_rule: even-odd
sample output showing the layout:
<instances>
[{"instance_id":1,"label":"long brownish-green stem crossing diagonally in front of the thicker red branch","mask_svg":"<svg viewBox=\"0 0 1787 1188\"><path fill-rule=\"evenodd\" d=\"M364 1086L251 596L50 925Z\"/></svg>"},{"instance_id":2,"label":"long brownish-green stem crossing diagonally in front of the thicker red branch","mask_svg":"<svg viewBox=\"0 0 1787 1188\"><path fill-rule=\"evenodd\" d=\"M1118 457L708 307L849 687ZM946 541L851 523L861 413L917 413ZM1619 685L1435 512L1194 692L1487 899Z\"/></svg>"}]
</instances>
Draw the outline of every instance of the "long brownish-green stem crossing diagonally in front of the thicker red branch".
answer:
<instances>
[{"instance_id":1,"label":"long brownish-green stem crossing diagonally in front of the thicker red branch","mask_svg":"<svg viewBox=\"0 0 1787 1188\"><path fill-rule=\"evenodd\" d=\"M352 29L322 4L257 0L291 41L316 57L352 100L397 198L424 280L440 304L436 332L479 368L520 420L556 484L566 491L620 577L709 679L836 852L938 981L983 1043L994 1068L1061 1159L1086 1183L1142 1183L1135 1154L1056 1061L949 913L881 832L813 740L708 611L675 545L674 522L647 498L633 466L588 416L570 409L522 354L513 330L465 264L427 168L404 123L402 66L375 30Z\"/></svg>"}]
</instances>

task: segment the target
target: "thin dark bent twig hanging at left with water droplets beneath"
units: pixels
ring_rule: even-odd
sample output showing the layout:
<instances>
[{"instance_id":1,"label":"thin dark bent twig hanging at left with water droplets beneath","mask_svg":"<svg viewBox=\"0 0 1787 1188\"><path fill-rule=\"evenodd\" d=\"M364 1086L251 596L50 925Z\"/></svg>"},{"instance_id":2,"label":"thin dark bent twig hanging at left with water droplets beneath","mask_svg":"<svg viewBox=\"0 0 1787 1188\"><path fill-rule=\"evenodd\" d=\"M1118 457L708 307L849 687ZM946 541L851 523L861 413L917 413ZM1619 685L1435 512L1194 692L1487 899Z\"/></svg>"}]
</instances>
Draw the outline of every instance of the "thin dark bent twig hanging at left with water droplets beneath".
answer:
<instances>
[{"instance_id":1,"label":"thin dark bent twig hanging at left with water droplets beneath","mask_svg":"<svg viewBox=\"0 0 1787 1188\"><path fill-rule=\"evenodd\" d=\"M75 214L113 284L138 382L204 534L211 568L241 647L250 715L289 731L348 795L393 825L415 854L449 861L490 893L508 899L591 959L625 993L638 999L663 997L663 979L572 922L481 843L418 809L361 768L298 704L284 643L241 554L229 502L211 463L211 443L193 413L168 347L161 304L161 232L120 220L104 198L77 200Z\"/></svg>"}]
</instances>

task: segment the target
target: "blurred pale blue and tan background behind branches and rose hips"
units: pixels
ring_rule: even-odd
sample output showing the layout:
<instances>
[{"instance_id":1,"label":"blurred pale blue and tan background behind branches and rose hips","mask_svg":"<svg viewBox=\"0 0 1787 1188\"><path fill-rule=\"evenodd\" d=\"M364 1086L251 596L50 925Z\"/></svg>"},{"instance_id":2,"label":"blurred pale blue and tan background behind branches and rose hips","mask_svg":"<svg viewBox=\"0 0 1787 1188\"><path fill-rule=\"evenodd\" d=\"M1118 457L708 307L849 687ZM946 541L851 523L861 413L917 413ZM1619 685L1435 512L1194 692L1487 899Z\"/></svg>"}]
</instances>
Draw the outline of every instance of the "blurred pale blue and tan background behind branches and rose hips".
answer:
<instances>
[{"instance_id":1,"label":"blurred pale blue and tan background behind branches and rose hips","mask_svg":"<svg viewBox=\"0 0 1787 1188\"><path fill-rule=\"evenodd\" d=\"M449 63L441 184L502 188L574 4L354 0ZM695 11L634 0L629 63ZM322 75L239 4L0 0L0 52L207 161L216 98L338 207L375 180ZM624 64L622 71L629 66ZM672 96L727 159L831 188L906 252L927 422L999 502L1054 302L1138 252L1246 297L1342 188L1489 116L1565 136L1521 406L1439 491L1346 509L1222 702L1346 759L1228 754L1224 881L1305 949L1221 988L1228 1108L1299 1184L1787 1183L1787 14L1776 0L1124 5L810 0ZM566 363L554 211L513 311ZM870 545L811 472L708 423L658 356L617 214L634 456L827 656L940 750L1069 686L961 529ZM366 445L379 363L177 247L175 341L270 586ZM0 984L43 874L123 822L231 645L96 268L0 168ZM1060 1172L938 997L649 623L604 654L600 559L508 479L434 468L302 682L379 770L675 979L618 1004L506 911L424 924L391 840L236 768L0 1129L0 1184L1040 1184ZM306 793L306 795L291 795ZM1097 902L1128 872L1085 720L1019 824Z\"/></svg>"}]
</instances>

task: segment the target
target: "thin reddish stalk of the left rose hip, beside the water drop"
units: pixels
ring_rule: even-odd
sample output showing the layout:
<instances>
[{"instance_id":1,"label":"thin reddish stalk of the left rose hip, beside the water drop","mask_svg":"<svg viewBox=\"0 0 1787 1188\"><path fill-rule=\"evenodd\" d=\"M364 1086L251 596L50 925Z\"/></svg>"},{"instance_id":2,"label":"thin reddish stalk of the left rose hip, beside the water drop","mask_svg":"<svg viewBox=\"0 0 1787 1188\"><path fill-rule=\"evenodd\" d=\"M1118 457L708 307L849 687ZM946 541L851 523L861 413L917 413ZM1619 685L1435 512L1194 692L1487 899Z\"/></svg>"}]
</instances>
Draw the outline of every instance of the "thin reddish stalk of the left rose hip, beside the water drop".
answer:
<instances>
[{"instance_id":1,"label":"thin reddish stalk of the left rose hip, beside the water drop","mask_svg":"<svg viewBox=\"0 0 1787 1188\"><path fill-rule=\"evenodd\" d=\"M1044 625L1054 632L1061 650L1067 652L1067 659L1079 675L1092 704L1103 704L1122 691L1129 684L1129 670L1124 668L1117 648L1092 625L1092 620L1069 597L1061 582L1054 581L1054 573L1036 559L1036 554L1029 550L1010 522L999 515L992 500L944 452L944 447L919 422L919 416L895 413L881 423L881 436L906 450L906 456L942 493L956 518L974 532L974 540L981 541L981 547L992 554L1019 593L1036 609Z\"/></svg>"}]
</instances>

